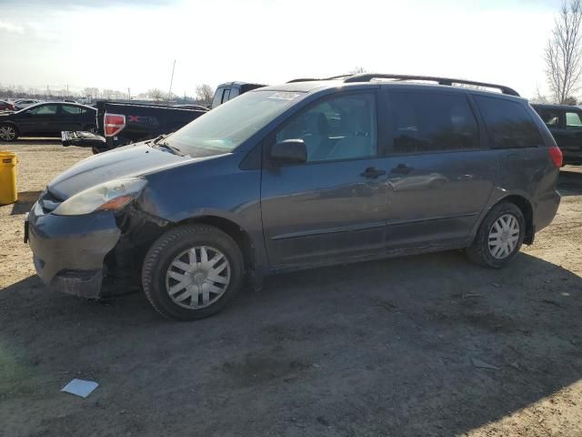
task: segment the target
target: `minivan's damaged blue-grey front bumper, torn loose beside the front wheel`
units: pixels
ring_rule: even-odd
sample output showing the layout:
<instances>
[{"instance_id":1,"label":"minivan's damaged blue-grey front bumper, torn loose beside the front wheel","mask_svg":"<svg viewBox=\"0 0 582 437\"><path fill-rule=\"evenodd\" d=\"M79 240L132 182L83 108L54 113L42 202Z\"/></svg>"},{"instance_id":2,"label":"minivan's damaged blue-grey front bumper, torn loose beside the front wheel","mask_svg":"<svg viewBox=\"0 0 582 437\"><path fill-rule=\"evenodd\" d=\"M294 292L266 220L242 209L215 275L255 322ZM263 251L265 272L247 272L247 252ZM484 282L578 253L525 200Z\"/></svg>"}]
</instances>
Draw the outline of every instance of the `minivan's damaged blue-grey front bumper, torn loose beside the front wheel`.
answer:
<instances>
[{"instance_id":1,"label":"minivan's damaged blue-grey front bumper, torn loose beside the front wheel","mask_svg":"<svg viewBox=\"0 0 582 437\"><path fill-rule=\"evenodd\" d=\"M36 272L46 285L89 299L102 296L105 256L121 236L113 212L56 216L36 202L27 230Z\"/></svg>"}]
</instances>

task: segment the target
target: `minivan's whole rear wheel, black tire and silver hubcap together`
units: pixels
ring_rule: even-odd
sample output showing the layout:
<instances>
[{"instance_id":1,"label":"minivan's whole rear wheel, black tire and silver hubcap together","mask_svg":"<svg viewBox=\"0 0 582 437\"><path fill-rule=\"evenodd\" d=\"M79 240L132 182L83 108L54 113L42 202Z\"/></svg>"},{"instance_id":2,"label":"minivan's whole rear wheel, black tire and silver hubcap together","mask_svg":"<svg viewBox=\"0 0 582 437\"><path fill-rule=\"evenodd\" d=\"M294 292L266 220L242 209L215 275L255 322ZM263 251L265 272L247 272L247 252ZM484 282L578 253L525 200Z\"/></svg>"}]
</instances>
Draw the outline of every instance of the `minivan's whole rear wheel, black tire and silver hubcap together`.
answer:
<instances>
[{"instance_id":1,"label":"minivan's whole rear wheel, black tire and silver hubcap together","mask_svg":"<svg viewBox=\"0 0 582 437\"><path fill-rule=\"evenodd\" d=\"M477 264L494 269L513 259L524 242L526 220L513 203L502 202L487 213L467 256Z\"/></svg>"}]
</instances>

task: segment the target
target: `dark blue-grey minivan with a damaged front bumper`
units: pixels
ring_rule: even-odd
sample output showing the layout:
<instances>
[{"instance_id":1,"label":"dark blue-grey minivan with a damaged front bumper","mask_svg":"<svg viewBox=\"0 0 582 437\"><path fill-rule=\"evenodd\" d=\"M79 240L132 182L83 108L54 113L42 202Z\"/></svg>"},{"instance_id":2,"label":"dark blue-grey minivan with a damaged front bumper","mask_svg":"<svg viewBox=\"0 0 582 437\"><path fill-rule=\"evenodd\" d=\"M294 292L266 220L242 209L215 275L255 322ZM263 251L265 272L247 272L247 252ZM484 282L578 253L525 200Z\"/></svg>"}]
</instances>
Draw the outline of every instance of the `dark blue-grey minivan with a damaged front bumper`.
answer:
<instances>
[{"instance_id":1,"label":"dark blue-grey minivan with a damaged front bumper","mask_svg":"<svg viewBox=\"0 0 582 437\"><path fill-rule=\"evenodd\" d=\"M139 283L161 314L193 320L245 278L291 269L448 249L501 268L556 215L561 160L507 86L292 81L77 163L25 239L52 289L100 298Z\"/></svg>"}]
</instances>

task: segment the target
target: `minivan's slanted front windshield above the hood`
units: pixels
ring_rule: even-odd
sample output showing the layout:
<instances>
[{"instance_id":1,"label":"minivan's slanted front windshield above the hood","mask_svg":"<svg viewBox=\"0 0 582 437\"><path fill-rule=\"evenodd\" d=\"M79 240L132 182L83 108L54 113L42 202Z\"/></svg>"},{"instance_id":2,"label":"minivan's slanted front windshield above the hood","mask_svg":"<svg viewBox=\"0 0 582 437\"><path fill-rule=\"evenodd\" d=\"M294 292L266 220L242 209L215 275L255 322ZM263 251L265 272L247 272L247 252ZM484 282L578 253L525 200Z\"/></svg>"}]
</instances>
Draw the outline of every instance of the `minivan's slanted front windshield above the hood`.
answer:
<instances>
[{"instance_id":1,"label":"minivan's slanted front windshield above the hood","mask_svg":"<svg viewBox=\"0 0 582 437\"><path fill-rule=\"evenodd\" d=\"M191 157L232 152L305 93L252 91L196 118L164 142Z\"/></svg>"}]
</instances>

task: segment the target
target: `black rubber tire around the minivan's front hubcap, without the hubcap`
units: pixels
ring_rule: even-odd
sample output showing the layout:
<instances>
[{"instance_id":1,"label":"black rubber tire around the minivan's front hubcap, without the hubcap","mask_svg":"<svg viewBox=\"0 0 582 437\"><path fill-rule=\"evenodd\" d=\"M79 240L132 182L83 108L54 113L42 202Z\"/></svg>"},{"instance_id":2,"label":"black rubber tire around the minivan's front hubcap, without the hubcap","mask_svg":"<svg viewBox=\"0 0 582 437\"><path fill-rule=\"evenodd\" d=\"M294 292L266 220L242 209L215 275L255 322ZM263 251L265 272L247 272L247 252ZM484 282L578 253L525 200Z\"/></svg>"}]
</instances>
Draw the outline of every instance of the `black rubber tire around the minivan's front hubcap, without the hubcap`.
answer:
<instances>
[{"instance_id":1,"label":"black rubber tire around the minivan's front hubcap, without the hubcap","mask_svg":"<svg viewBox=\"0 0 582 437\"><path fill-rule=\"evenodd\" d=\"M200 309L186 309L170 298L166 290L166 272L177 256L197 246L216 248L225 255L229 263L230 281L224 294L214 303ZM169 230L147 251L142 268L142 284L147 299L163 316L176 320L204 319L222 310L233 300L241 287L244 271L241 251L225 232L208 225L186 225Z\"/></svg>"}]
</instances>

